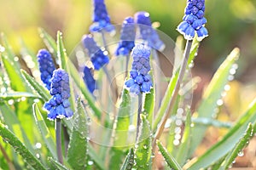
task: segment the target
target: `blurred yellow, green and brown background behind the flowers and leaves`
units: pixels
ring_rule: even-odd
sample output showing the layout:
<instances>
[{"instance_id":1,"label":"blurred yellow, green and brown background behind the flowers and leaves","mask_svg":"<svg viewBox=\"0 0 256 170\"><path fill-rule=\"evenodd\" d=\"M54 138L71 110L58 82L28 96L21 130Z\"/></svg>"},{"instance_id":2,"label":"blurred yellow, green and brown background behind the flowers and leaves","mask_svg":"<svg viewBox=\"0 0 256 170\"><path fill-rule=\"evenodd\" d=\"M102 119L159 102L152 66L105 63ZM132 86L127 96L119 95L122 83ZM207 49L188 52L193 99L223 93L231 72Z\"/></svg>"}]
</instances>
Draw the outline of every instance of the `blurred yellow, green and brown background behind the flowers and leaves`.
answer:
<instances>
[{"instance_id":1,"label":"blurred yellow, green and brown background behind the flowers and leaves","mask_svg":"<svg viewBox=\"0 0 256 170\"><path fill-rule=\"evenodd\" d=\"M0 0L0 4L0 31L9 38L16 54L20 54L20 38L35 54L45 48L38 27L53 37L56 31L62 31L69 54L91 24L90 0ZM121 24L126 16L145 10L152 21L160 22L160 31L176 40L179 36L176 27L183 18L186 0L106 0L106 4L113 24ZM200 99L203 88L227 54L235 47L240 48L236 81L230 82L231 90L221 110L223 120L234 121L256 96L256 1L207 0L206 18L209 37L201 42L195 59L193 75L201 77L201 82L194 99ZM212 136L217 140L224 132L210 129L205 148L199 153L214 143ZM255 143L254 139L254 146ZM254 161L247 158L246 165L256 166L255 150L248 157L252 156Z\"/></svg>"}]
</instances>

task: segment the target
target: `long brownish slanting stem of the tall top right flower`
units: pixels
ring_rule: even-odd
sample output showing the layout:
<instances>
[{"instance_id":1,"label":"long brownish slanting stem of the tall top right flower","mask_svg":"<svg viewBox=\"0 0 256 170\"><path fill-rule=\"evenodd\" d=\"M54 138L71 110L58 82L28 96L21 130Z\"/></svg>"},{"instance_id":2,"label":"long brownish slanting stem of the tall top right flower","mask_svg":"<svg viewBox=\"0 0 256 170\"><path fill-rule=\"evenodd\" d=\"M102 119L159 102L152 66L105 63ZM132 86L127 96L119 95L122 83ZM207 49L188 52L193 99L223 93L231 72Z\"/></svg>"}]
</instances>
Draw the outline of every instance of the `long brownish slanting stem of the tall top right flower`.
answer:
<instances>
[{"instance_id":1,"label":"long brownish slanting stem of the tall top right flower","mask_svg":"<svg viewBox=\"0 0 256 170\"><path fill-rule=\"evenodd\" d=\"M175 88L172 92L172 99L170 101L170 105L168 107L168 111L166 111L165 116L163 116L161 122L160 122L160 126L157 128L157 131L154 135L154 140L153 140L153 151L155 151L155 144L156 144L156 140L160 139L161 134L163 133L164 129L165 129L165 125L166 125L166 121L167 119L170 117L170 114L172 112L173 109L173 105L175 104L175 101L177 99L177 94L179 91L179 88L181 86L181 83L183 81L183 77L187 68L187 64L188 64L188 59L189 59L189 53L190 53L190 49L192 46L192 40L188 40L186 43L186 48L183 54L183 61L179 70L179 75L177 77L177 83L175 85Z\"/></svg>"}]
</instances>

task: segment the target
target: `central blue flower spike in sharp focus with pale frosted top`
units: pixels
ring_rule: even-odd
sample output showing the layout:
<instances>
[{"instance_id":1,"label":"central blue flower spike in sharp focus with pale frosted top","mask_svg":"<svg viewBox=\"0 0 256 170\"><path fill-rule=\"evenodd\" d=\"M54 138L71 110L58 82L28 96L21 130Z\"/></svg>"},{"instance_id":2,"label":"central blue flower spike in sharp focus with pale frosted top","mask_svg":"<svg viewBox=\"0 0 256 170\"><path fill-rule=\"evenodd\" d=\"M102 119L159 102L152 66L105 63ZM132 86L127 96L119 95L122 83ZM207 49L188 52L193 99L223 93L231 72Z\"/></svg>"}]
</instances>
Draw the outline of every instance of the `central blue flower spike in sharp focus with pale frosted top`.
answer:
<instances>
[{"instance_id":1,"label":"central blue flower spike in sharp focus with pale frosted top","mask_svg":"<svg viewBox=\"0 0 256 170\"><path fill-rule=\"evenodd\" d=\"M133 59L130 79L125 82L126 88L130 89L131 94L149 93L153 87L150 71L148 46L137 44L131 51Z\"/></svg>"}]
</instances>

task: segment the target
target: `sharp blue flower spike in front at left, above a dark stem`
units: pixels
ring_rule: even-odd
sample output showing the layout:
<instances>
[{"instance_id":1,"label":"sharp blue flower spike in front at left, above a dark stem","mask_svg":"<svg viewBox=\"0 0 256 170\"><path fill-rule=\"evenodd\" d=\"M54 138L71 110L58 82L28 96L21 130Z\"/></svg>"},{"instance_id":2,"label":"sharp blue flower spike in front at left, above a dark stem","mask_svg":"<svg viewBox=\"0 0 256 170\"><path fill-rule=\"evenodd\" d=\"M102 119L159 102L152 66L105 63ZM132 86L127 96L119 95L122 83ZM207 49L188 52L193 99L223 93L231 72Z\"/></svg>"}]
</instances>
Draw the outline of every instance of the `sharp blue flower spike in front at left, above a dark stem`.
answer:
<instances>
[{"instance_id":1,"label":"sharp blue flower spike in front at left, above a dark stem","mask_svg":"<svg viewBox=\"0 0 256 170\"><path fill-rule=\"evenodd\" d=\"M53 72L49 93L52 95L52 98L44 104L44 108L49 111L47 118L51 121L64 117L70 119L73 116L73 111L70 109L68 101L70 88L69 77L66 71L57 69Z\"/></svg>"}]
</instances>

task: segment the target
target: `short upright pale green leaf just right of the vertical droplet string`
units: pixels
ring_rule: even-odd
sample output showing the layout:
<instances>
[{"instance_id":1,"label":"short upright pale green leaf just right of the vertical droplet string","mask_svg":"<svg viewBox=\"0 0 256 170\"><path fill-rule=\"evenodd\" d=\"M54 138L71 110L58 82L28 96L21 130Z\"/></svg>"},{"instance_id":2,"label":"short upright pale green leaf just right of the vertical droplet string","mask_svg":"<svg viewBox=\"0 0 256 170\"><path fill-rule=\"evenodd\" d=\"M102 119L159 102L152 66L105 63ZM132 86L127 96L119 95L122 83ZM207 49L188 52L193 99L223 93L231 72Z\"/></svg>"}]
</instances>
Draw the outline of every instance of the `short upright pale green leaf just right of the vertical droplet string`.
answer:
<instances>
[{"instance_id":1,"label":"short upright pale green leaf just right of the vertical droplet string","mask_svg":"<svg viewBox=\"0 0 256 170\"><path fill-rule=\"evenodd\" d=\"M188 159L190 136L191 135L191 113L187 111L187 117L185 122L185 129L183 132L183 139L177 150L176 161L179 165L183 165Z\"/></svg>"}]
</instances>

